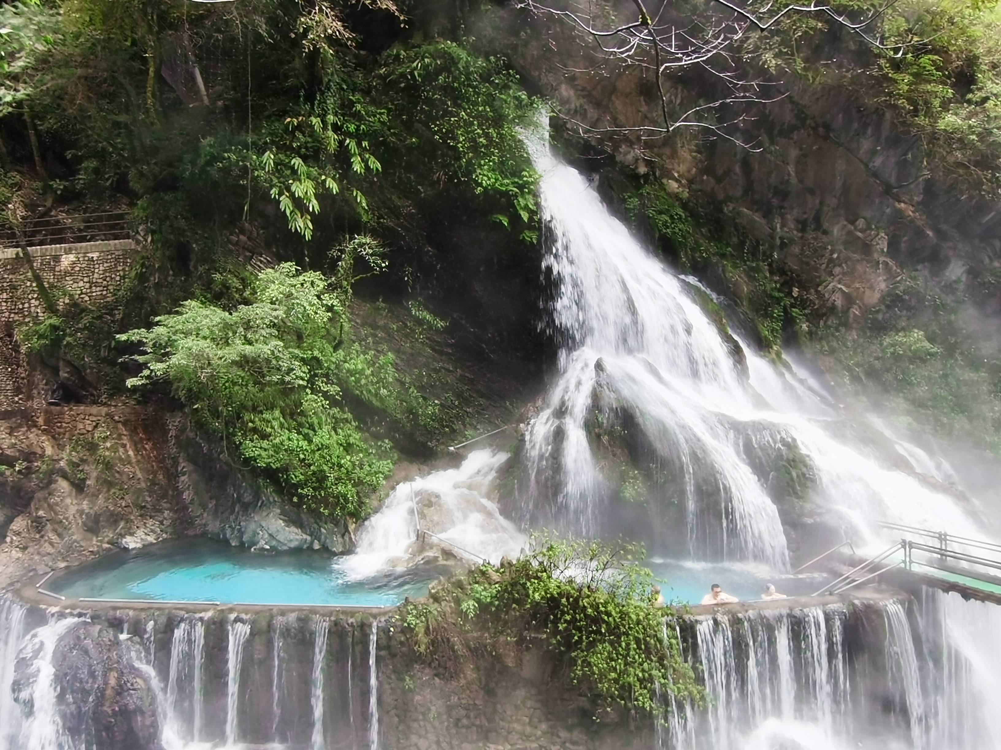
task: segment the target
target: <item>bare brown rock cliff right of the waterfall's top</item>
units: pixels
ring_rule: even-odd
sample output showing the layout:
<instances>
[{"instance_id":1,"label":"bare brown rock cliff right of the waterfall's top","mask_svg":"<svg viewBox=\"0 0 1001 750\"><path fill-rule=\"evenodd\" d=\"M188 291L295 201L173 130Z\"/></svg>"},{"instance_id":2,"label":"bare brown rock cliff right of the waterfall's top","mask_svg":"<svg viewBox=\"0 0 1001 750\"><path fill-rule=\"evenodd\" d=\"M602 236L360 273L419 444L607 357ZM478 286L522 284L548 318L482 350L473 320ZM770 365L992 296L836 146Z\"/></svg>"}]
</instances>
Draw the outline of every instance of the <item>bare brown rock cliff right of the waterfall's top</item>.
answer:
<instances>
[{"instance_id":1,"label":"bare brown rock cliff right of the waterfall's top","mask_svg":"<svg viewBox=\"0 0 1001 750\"><path fill-rule=\"evenodd\" d=\"M443 20L426 23L439 28ZM577 129L573 122L597 129L659 122L656 87L644 69L600 64L594 40L570 24L513 7L473 14L469 24L484 51L509 57L530 87L556 103L568 130ZM835 35L825 44L818 50L825 59L850 59L856 70L872 65L851 39ZM907 271L933 283L959 281L996 311L1001 298L980 281L997 268L998 204L951 182L904 123L836 68L821 83L792 73L769 77L781 81L775 93L784 98L751 113L742 137L754 150L701 131L590 140L620 168L653 173L679 199L710 208L831 319L858 324ZM694 73L668 84L679 111L716 91Z\"/></svg>"}]
</instances>

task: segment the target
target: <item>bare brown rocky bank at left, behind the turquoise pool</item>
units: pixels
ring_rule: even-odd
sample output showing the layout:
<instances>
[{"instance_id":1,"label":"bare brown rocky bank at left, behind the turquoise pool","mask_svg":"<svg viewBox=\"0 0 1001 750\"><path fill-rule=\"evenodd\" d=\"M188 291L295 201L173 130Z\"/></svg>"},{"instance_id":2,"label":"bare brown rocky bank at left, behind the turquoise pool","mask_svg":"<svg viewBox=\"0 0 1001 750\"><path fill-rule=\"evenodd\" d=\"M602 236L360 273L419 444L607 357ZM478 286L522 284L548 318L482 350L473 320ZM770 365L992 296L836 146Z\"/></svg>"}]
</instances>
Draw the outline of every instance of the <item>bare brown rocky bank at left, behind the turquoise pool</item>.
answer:
<instances>
[{"instance_id":1,"label":"bare brown rocky bank at left, behind the turquoise pool","mask_svg":"<svg viewBox=\"0 0 1001 750\"><path fill-rule=\"evenodd\" d=\"M132 406L23 410L0 421L0 583L114 547L186 534L274 549L351 544L229 463L181 414Z\"/></svg>"}]
</instances>

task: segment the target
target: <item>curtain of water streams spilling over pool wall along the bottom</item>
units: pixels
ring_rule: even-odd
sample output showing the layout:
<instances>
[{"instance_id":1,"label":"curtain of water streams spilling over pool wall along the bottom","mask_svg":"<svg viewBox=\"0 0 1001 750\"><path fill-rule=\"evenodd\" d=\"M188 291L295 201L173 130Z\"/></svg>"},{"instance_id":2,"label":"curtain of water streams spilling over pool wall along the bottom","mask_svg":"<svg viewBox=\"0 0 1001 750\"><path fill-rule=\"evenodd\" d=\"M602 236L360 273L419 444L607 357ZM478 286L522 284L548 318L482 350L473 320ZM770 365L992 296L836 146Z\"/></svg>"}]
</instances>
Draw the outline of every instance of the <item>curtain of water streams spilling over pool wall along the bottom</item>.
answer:
<instances>
[{"instance_id":1,"label":"curtain of water streams spilling over pool wall along the bottom","mask_svg":"<svg viewBox=\"0 0 1001 750\"><path fill-rule=\"evenodd\" d=\"M120 634L147 680L165 750L426 750L475 746L487 735L517 746L530 734L541 748L579 742L596 750L999 747L993 696L1001 664L981 656L1001 628L997 607L930 591L918 600L790 604L697 608L679 621L679 635L705 682L707 706L671 705L662 691L673 708L667 725L596 734L587 716L568 719L579 699L559 670L533 676L538 666L528 665L539 654L507 671L473 657L470 668L496 680L498 703L489 711L472 704L485 713L470 722L468 686L413 671L388 622L126 610L91 613L91 622L4 598L0 750L83 750L79 696L56 690L53 676L76 658L67 634L96 625ZM422 680L419 690L411 678Z\"/></svg>"}]
</instances>

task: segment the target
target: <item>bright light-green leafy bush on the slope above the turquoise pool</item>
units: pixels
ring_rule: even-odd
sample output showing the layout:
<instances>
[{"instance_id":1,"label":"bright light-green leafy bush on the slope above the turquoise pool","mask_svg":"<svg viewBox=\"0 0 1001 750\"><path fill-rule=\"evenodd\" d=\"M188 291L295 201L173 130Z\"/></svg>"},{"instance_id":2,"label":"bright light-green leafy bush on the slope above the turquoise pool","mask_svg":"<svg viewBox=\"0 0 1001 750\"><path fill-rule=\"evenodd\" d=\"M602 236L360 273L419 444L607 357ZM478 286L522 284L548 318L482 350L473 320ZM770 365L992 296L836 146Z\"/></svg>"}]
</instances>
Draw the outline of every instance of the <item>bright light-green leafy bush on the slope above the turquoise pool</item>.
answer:
<instances>
[{"instance_id":1,"label":"bright light-green leafy bush on the slope above the turquoise pool","mask_svg":"<svg viewBox=\"0 0 1001 750\"><path fill-rule=\"evenodd\" d=\"M339 285L292 264L262 271L253 301L227 311L198 300L119 337L140 344L129 385L170 383L198 422L303 507L360 518L392 464L345 408L392 405L391 360L345 341L357 246L341 248Z\"/></svg>"}]
</instances>

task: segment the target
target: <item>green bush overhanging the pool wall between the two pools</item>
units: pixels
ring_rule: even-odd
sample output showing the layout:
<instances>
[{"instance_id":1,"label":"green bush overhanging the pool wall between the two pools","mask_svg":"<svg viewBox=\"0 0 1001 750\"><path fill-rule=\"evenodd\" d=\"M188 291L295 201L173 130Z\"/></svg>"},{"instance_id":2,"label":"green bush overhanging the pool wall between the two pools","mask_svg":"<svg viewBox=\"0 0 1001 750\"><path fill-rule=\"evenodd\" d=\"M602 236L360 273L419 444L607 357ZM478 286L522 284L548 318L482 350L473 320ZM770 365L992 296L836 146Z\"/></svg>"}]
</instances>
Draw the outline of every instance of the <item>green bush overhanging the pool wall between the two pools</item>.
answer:
<instances>
[{"instance_id":1,"label":"green bush overhanging the pool wall between the two pools","mask_svg":"<svg viewBox=\"0 0 1001 750\"><path fill-rule=\"evenodd\" d=\"M516 562L474 568L430 604L407 604L403 627L425 656L472 633L491 641L542 633L603 709L661 715L659 687L696 703L703 695L681 656L674 613L653 606L642 556L635 545L546 539Z\"/></svg>"}]
</instances>

